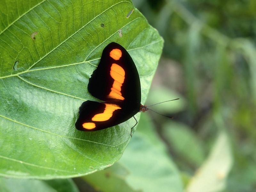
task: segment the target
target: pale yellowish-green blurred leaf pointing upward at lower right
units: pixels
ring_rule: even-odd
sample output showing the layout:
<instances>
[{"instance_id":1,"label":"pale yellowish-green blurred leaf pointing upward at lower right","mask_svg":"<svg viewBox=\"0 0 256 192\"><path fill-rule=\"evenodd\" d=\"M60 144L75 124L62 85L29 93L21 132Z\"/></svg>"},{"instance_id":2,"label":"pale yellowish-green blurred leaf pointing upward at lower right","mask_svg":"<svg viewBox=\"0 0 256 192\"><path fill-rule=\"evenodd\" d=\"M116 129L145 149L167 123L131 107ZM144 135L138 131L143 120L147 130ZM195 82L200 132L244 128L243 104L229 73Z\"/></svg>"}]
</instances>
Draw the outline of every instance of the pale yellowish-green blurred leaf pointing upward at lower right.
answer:
<instances>
[{"instance_id":1,"label":"pale yellowish-green blurred leaf pointing upward at lower right","mask_svg":"<svg viewBox=\"0 0 256 192\"><path fill-rule=\"evenodd\" d=\"M217 192L225 189L228 173L233 164L228 136L220 132L215 145L188 185L188 192Z\"/></svg>"}]
</instances>

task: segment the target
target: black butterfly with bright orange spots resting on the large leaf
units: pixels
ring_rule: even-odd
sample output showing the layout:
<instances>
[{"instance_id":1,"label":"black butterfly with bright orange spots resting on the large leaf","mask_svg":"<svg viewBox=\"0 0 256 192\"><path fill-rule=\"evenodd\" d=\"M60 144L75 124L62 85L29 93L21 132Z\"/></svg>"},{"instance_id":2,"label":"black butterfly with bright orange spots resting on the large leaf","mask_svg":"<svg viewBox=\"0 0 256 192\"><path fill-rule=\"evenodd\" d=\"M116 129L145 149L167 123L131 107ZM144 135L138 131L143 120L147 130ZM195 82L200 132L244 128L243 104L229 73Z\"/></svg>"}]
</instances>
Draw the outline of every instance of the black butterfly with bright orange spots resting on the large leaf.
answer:
<instances>
[{"instance_id":1,"label":"black butterfly with bright orange spots resting on the large leaf","mask_svg":"<svg viewBox=\"0 0 256 192\"><path fill-rule=\"evenodd\" d=\"M81 131L106 129L148 110L140 103L137 68L124 47L115 42L104 48L100 63L89 79L88 91L102 102L83 102L75 124L76 129Z\"/></svg>"}]
</instances>

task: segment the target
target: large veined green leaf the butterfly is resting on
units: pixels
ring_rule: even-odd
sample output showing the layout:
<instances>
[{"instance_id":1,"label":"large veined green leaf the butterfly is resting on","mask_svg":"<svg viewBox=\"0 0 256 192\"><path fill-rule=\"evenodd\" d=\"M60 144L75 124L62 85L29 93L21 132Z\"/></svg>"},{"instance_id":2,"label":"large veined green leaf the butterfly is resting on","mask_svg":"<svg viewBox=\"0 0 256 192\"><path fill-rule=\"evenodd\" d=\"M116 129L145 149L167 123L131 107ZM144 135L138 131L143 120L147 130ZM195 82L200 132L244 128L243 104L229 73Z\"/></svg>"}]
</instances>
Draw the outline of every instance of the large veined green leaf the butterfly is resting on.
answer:
<instances>
[{"instance_id":1,"label":"large veined green leaf the butterfly is resting on","mask_svg":"<svg viewBox=\"0 0 256 192\"><path fill-rule=\"evenodd\" d=\"M117 161L134 119L81 132L78 108L95 99L88 79L113 41L131 54L144 102L162 52L158 32L130 1L6 0L0 13L0 175L74 177Z\"/></svg>"}]
</instances>

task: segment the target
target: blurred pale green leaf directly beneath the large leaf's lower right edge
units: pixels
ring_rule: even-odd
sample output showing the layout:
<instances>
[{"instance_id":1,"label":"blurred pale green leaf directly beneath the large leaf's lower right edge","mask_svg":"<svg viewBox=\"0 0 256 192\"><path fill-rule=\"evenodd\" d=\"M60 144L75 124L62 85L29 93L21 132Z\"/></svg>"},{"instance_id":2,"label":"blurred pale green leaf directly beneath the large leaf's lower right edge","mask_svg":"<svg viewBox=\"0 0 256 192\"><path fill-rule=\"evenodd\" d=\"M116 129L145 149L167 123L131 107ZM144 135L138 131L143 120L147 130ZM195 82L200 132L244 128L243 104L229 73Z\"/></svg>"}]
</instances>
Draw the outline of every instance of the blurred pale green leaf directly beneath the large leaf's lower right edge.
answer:
<instances>
[{"instance_id":1,"label":"blurred pale green leaf directly beneath the large leaf's lower right edge","mask_svg":"<svg viewBox=\"0 0 256 192\"><path fill-rule=\"evenodd\" d=\"M183 191L179 172L146 117L141 115L122 158L104 171L85 176L87 182L104 192Z\"/></svg>"}]
</instances>

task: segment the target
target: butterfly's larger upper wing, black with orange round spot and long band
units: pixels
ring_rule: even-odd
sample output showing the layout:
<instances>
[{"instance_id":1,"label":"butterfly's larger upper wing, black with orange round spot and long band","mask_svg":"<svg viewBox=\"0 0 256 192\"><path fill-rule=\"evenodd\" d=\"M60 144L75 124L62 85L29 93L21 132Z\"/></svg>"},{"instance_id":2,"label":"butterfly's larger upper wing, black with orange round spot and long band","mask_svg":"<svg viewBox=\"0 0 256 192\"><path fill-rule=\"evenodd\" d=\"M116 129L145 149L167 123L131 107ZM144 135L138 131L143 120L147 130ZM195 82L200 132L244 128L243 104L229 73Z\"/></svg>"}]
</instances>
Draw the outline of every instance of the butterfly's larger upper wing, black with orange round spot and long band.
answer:
<instances>
[{"instance_id":1,"label":"butterfly's larger upper wing, black with orange round spot and long band","mask_svg":"<svg viewBox=\"0 0 256 192\"><path fill-rule=\"evenodd\" d=\"M112 92L120 91L116 97L109 96L113 87L116 87L116 90ZM114 42L105 47L100 63L89 79L88 91L102 101L124 98L125 102L140 103L140 77L131 56L124 47Z\"/></svg>"}]
</instances>

